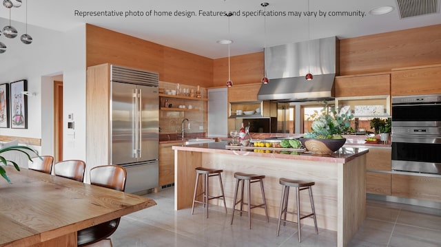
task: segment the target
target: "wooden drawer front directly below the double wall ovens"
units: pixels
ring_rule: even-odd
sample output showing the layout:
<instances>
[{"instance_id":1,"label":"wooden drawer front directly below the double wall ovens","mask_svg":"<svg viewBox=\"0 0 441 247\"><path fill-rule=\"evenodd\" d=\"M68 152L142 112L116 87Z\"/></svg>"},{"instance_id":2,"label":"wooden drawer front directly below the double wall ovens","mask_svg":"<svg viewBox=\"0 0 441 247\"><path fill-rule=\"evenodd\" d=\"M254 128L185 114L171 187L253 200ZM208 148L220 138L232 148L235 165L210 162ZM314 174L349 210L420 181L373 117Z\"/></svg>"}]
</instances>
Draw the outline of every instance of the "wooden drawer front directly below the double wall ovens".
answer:
<instances>
[{"instance_id":1,"label":"wooden drawer front directly below the double wall ovens","mask_svg":"<svg viewBox=\"0 0 441 247\"><path fill-rule=\"evenodd\" d=\"M422 175L392 175L392 195L441 202L441 178Z\"/></svg>"}]
</instances>

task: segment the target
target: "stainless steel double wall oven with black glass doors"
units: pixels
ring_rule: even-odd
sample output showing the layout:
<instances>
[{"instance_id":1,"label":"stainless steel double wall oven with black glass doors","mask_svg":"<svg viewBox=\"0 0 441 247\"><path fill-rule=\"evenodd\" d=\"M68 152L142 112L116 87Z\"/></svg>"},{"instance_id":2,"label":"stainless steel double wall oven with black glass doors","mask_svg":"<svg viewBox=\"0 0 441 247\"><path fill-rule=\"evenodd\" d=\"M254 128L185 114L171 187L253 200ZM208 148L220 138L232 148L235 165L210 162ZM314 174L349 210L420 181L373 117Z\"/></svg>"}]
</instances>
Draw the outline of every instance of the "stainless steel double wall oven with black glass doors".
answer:
<instances>
[{"instance_id":1,"label":"stainless steel double wall oven with black glass doors","mask_svg":"<svg viewBox=\"0 0 441 247\"><path fill-rule=\"evenodd\" d=\"M392 169L441 174L441 95L392 97Z\"/></svg>"}]
</instances>

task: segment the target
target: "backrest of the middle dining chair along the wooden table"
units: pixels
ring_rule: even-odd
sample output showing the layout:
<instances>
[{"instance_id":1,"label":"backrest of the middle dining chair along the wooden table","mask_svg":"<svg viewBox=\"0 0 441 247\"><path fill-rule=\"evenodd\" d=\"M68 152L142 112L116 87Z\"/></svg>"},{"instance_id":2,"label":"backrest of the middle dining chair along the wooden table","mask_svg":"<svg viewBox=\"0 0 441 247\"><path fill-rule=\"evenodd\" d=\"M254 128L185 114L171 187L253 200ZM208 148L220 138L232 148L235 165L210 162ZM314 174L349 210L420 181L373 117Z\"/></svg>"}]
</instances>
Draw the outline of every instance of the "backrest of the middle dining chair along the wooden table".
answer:
<instances>
[{"instance_id":1,"label":"backrest of the middle dining chair along the wooden table","mask_svg":"<svg viewBox=\"0 0 441 247\"><path fill-rule=\"evenodd\" d=\"M83 160L62 160L54 164L54 175L83 182L85 162Z\"/></svg>"}]
</instances>

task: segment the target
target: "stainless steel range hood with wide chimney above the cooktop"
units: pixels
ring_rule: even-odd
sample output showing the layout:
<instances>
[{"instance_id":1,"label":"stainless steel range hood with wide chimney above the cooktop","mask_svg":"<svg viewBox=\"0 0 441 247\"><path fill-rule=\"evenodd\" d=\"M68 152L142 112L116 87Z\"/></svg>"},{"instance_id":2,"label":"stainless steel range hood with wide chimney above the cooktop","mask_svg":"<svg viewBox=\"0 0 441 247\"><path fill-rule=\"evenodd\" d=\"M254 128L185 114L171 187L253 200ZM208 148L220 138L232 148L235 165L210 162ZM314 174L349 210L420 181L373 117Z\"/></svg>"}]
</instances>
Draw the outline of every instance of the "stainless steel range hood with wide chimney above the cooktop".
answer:
<instances>
[{"instance_id":1,"label":"stainless steel range hood with wide chimney above the cooktop","mask_svg":"<svg viewBox=\"0 0 441 247\"><path fill-rule=\"evenodd\" d=\"M334 78L339 74L339 47L336 36L267 47L269 83L260 87L258 100L333 100ZM309 72L314 75L313 80L305 79Z\"/></svg>"}]
</instances>

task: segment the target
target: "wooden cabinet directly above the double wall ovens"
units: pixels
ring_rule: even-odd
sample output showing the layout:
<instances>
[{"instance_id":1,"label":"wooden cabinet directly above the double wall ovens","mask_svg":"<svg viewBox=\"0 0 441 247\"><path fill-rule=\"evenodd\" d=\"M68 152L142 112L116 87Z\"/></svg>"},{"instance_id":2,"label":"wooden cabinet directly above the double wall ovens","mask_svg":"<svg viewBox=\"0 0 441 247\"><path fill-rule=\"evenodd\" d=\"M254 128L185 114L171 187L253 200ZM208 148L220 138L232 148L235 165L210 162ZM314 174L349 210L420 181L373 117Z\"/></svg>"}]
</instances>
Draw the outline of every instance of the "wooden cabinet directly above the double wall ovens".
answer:
<instances>
[{"instance_id":1,"label":"wooden cabinet directly above the double wall ovens","mask_svg":"<svg viewBox=\"0 0 441 247\"><path fill-rule=\"evenodd\" d=\"M441 65L392 69L391 95L441 94Z\"/></svg>"}]
</instances>

